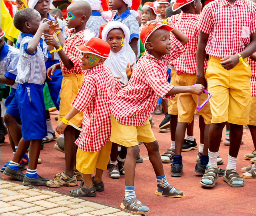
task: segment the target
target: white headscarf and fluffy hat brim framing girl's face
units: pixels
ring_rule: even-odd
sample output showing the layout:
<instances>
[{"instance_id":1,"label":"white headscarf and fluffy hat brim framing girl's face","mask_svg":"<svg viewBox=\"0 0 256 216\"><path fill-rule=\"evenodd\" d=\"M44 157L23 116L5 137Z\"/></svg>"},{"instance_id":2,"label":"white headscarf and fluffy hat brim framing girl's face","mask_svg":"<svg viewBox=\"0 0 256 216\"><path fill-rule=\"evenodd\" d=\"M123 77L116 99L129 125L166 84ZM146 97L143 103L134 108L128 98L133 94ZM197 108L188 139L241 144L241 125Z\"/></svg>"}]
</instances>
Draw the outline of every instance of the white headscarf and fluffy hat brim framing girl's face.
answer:
<instances>
[{"instance_id":1,"label":"white headscarf and fluffy hat brim framing girl's face","mask_svg":"<svg viewBox=\"0 0 256 216\"><path fill-rule=\"evenodd\" d=\"M122 86L127 86L128 84L128 78L126 75L127 63L131 65L133 64L133 62L135 62L132 67L133 70L136 66L136 56L129 45L130 30L124 23L118 22L118 21L112 21L105 25L105 27L102 30L101 36L102 36L102 40L107 42L108 32L112 29L117 29L117 28L121 28L124 31L124 34L125 34L124 45L122 49L117 53L114 53L110 50L109 57L104 62L104 65L111 70L111 72L115 77L117 78L122 77L121 79L119 79L121 82L124 83L124 85L121 84Z\"/></svg>"}]
</instances>

